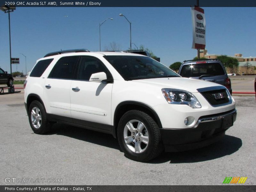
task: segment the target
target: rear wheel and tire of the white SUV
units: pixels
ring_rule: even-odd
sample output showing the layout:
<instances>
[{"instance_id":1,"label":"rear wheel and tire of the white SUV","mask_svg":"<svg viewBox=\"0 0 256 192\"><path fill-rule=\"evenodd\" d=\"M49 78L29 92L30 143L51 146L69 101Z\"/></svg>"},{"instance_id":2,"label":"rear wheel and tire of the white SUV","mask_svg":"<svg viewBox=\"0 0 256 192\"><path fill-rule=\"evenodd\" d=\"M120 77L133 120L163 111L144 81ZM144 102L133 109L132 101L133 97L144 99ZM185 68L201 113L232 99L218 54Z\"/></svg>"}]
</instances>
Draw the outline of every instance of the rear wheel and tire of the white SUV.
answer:
<instances>
[{"instance_id":1,"label":"rear wheel and tire of the white SUV","mask_svg":"<svg viewBox=\"0 0 256 192\"><path fill-rule=\"evenodd\" d=\"M46 118L44 106L35 100L29 106L28 119L31 129L34 133L44 134L50 131L51 124Z\"/></svg>"}]
</instances>

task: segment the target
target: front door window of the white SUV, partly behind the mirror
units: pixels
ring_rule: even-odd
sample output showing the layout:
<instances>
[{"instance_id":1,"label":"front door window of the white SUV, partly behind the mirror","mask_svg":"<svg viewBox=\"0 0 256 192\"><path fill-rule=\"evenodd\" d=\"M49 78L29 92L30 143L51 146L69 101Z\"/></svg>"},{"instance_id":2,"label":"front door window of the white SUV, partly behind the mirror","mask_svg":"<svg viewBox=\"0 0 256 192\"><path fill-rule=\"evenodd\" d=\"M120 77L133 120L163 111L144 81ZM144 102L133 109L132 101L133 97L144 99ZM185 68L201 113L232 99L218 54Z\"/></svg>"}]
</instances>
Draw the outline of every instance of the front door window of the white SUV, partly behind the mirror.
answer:
<instances>
[{"instance_id":1,"label":"front door window of the white SUV, partly behind the mirror","mask_svg":"<svg viewBox=\"0 0 256 192\"><path fill-rule=\"evenodd\" d=\"M105 72L107 78L111 78L111 75L99 60L92 57L83 57L80 62L77 79L89 81L93 73L99 72Z\"/></svg>"}]
</instances>

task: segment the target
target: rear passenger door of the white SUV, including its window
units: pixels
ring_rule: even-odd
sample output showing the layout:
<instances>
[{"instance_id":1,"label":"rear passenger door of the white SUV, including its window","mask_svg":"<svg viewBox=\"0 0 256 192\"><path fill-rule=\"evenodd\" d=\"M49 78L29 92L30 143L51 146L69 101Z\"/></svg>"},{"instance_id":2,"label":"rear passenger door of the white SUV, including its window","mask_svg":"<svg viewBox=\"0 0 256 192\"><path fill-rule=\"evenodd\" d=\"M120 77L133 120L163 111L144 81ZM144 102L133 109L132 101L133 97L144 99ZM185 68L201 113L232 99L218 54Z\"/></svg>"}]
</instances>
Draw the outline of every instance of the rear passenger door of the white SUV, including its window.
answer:
<instances>
[{"instance_id":1,"label":"rear passenger door of the white SUV, including its window","mask_svg":"<svg viewBox=\"0 0 256 192\"><path fill-rule=\"evenodd\" d=\"M75 75L79 56L60 58L48 78L45 80L44 98L47 105L47 113L57 115L64 121L71 121L70 89Z\"/></svg>"}]
</instances>

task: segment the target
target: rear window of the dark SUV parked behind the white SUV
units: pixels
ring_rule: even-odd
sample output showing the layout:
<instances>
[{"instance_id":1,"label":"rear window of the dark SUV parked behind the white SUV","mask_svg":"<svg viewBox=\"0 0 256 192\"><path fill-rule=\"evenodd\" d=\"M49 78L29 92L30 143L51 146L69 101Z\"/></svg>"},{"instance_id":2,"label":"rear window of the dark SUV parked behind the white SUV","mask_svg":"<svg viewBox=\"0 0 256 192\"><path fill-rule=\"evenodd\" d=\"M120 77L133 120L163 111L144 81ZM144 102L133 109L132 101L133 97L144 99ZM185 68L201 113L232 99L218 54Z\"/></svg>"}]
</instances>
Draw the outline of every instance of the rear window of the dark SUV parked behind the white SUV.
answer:
<instances>
[{"instance_id":1,"label":"rear window of the dark SUV parked behind the white SUV","mask_svg":"<svg viewBox=\"0 0 256 192\"><path fill-rule=\"evenodd\" d=\"M180 69L182 77L200 77L202 75L225 75L220 63L196 63L183 65Z\"/></svg>"}]
</instances>

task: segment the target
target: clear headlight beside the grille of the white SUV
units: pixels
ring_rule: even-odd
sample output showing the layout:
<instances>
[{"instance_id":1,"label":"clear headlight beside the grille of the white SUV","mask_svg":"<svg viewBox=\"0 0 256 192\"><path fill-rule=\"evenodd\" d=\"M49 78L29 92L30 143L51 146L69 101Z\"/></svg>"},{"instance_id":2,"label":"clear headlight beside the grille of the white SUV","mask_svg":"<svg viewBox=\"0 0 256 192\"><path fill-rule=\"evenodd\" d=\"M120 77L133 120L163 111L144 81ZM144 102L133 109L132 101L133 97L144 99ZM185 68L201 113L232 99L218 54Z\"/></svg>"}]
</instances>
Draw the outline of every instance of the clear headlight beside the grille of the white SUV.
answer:
<instances>
[{"instance_id":1,"label":"clear headlight beside the grille of the white SUV","mask_svg":"<svg viewBox=\"0 0 256 192\"><path fill-rule=\"evenodd\" d=\"M188 105L191 108L201 108L201 104L196 97L187 91L179 89L162 89L165 99L170 104Z\"/></svg>"}]
</instances>

